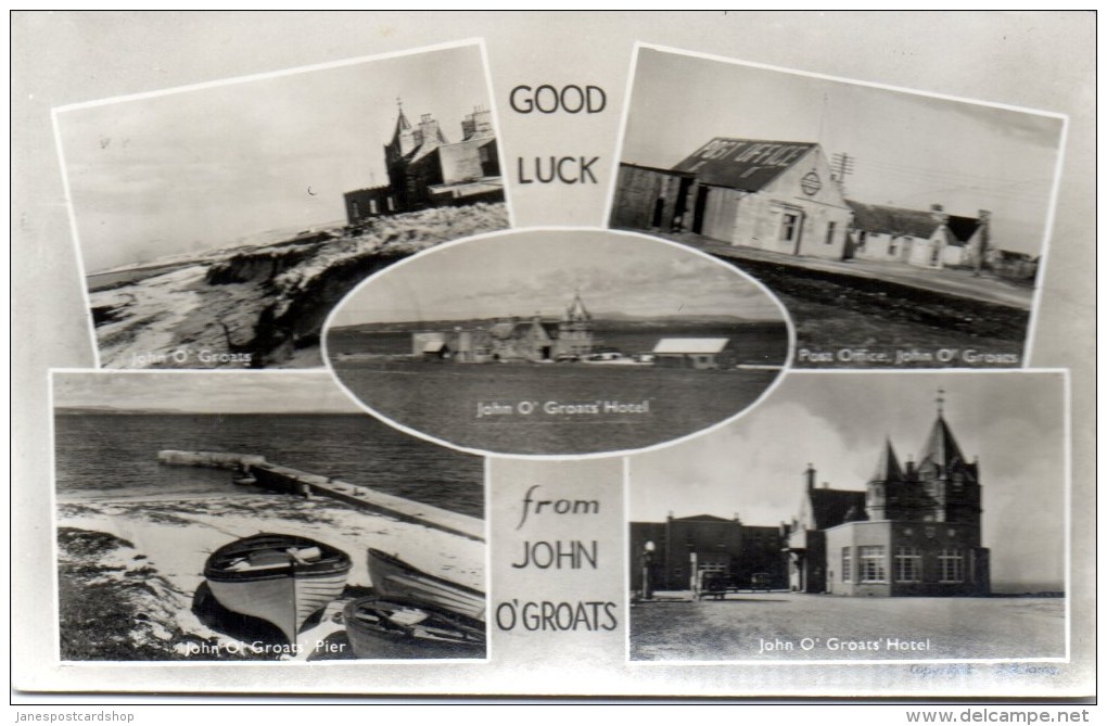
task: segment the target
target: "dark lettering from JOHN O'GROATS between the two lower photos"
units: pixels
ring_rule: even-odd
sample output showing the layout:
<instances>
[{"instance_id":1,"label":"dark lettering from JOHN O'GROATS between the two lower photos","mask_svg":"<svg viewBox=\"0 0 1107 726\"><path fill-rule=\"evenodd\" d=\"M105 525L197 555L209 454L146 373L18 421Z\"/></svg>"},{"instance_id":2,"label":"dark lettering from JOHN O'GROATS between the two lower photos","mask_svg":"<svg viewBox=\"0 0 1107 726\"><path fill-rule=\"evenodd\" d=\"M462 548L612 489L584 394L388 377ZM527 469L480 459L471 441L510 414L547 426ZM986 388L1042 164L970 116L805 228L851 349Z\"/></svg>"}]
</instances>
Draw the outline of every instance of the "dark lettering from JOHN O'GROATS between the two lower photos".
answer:
<instances>
[{"instance_id":1,"label":"dark lettering from JOHN O'GROATS between the two lower photos","mask_svg":"<svg viewBox=\"0 0 1107 726\"><path fill-rule=\"evenodd\" d=\"M546 491L541 485L527 488L519 502L516 531L537 532L521 541L511 568L535 571L538 577L560 577L573 570L600 569L600 542L596 539L541 539L544 526L566 518L579 520L578 531L588 531L588 519L600 514L599 499L581 499ZM573 601L505 598L496 604L496 626L503 631L581 632L612 631L619 626L619 605L609 600Z\"/></svg>"}]
</instances>

